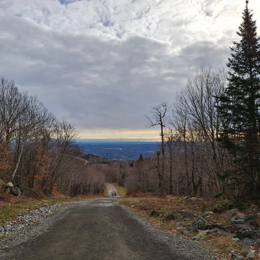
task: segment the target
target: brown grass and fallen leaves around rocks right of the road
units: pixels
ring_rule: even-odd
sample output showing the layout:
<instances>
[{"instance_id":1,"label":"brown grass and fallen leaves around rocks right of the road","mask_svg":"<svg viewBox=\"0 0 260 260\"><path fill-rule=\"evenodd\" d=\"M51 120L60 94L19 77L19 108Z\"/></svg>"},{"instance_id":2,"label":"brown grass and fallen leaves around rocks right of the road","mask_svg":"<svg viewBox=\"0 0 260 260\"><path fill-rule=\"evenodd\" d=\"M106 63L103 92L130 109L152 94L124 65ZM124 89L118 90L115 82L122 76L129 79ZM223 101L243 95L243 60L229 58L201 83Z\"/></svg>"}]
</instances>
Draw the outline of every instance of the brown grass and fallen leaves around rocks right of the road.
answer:
<instances>
[{"instance_id":1,"label":"brown grass and fallen leaves around rocks right of the road","mask_svg":"<svg viewBox=\"0 0 260 260\"><path fill-rule=\"evenodd\" d=\"M199 240L193 241L195 236L200 236L198 232L187 232L184 227L187 224L184 220L173 220L172 215L180 215L180 211L189 211L194 215L194 220L201 216L203 212L210 211L212 205L222 205L222 201L218 200L196 200L188 201L185 198L172 200L171 198L158 198L152 195L135 198L121 198L119 204L123 205L132 211L138 213L145 221L150 222L156 228L163 231L176 234L183 239L190 240L192 243L199 244L218 260L230 260L231 254L235 253L246 257L246 251L243 249L241 241L231 240L230 237L223 235L203 235ZM246 211L246 209L244 209ZM168 214L165 215L165 213ZM229 224L230 218L226 214L212 214L207 216L209 223ZM251 251L259 256L259 247L251 247ZM246 259L246 258L245 258ZM255 259L259 259L258 257Z\"/></svg>"}]
</instances>

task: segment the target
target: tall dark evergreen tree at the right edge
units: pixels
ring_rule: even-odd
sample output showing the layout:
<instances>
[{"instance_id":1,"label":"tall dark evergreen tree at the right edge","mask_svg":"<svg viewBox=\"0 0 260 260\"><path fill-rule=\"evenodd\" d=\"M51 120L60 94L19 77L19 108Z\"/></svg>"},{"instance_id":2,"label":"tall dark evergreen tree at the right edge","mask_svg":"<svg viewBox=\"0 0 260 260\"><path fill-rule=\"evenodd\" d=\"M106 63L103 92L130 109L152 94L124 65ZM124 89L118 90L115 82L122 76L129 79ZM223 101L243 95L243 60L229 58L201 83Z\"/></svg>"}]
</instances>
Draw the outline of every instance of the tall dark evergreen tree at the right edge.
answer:
<instances>
[{"instance_id":1,"label":"tall dark evergreen tree at the right edge","mask_svg":"<svg viewBox=\"0 0 260 260\"><path fill-rule=\"evenodd\" d=\"M229 84L218 107L223 120L218 140L234 159L236 170L226 176L240 183L245 195L260 198L260 37L252 16L246 0L237 32L241 40L230 48Z\"/></svg>"}]
</instances>

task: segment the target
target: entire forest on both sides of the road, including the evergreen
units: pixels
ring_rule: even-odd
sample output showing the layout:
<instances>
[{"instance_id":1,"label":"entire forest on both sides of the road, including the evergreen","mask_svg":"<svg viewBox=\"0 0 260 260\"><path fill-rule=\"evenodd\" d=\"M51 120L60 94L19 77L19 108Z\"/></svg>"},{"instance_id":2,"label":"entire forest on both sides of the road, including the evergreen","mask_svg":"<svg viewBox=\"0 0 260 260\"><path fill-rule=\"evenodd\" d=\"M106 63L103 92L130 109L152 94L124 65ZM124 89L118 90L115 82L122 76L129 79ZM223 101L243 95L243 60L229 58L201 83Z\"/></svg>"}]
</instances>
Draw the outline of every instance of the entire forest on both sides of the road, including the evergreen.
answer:
<instances>
[{"instance_id":1,"label":"entire forest on both sides of the road, including the evergreen","mask_svg":"<svg viewBox=\"0 0 260 260\"><path fill-rule=\"evenodd\" d=\"M77 146L77 131L38 100L0 78L0 194L102 194L118 182L129 193L260 199L260 37L246 7L228 72L202 65L173 104L155 105L144 125L160 147L136 161L97 159Z\"/></svg>"}]
</instances>

